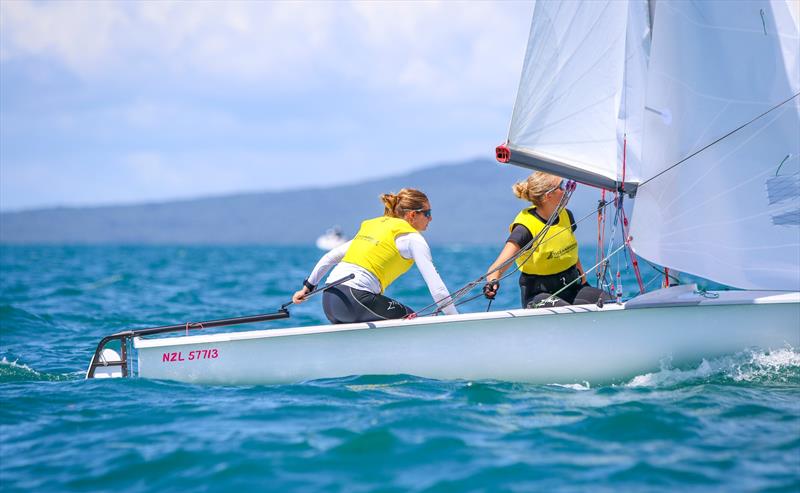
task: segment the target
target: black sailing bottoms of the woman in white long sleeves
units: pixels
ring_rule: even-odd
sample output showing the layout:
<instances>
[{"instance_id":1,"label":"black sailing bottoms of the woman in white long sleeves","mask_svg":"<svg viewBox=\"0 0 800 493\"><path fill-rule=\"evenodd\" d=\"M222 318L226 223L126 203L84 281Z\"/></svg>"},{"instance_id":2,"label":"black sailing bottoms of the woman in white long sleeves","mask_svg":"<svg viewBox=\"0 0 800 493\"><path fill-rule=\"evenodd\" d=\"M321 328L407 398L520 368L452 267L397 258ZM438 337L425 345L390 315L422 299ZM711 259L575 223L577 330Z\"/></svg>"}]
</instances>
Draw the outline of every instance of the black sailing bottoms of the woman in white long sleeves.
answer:
<instances>
[{"instance_id":1,"label":"black sailing bottoms of the woman in white long sleeves","mask_svg":"<svg viewBox=\"0 0 800 493\"><path fill-rule=\"evenodd\" d=\"M411 308L382 294L344 285L334 286L322 294L322 308L334 324L375 322L414 313Z\"/></svg>"}]
</instances>

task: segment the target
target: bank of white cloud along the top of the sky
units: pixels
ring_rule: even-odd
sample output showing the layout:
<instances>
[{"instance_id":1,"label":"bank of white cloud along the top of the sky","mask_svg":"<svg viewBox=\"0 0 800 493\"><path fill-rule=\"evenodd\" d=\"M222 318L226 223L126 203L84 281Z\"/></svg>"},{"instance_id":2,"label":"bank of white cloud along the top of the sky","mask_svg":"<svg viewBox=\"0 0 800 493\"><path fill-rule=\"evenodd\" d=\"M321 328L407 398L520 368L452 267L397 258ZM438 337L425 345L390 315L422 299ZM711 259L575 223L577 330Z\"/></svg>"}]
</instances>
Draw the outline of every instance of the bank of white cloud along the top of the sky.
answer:
<instances>
[{"instance_id":1,"label":"bank of white cloud along the top of the sky","mask_svg":"<svg viewBox=\"0 0 800 493\"><path fill-rule=\"evenodd\" d=\"M4 61L45 57L84 79L151 71L297 88L341 78L451 99L497 97L496 74L518 72L519 16L530 13L516 2L17 0L0 9Z\"/></svg>"}]
</instances>

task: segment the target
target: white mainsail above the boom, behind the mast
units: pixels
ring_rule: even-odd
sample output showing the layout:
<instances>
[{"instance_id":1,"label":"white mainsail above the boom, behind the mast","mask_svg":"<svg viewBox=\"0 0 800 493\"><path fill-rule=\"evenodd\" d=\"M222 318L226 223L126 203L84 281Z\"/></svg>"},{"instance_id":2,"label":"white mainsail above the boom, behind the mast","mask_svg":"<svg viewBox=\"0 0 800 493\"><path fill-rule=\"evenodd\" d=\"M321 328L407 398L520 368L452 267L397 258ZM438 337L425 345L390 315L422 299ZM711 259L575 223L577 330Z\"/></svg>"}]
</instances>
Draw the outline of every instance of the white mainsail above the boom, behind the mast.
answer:
<instances>
[{"instance_id":1,"label":"white mainsail above the boom, behind the mast","mask_svg":"<svg viewBox=\"0 0 800 493\"><path fill-rule=\"evenodd\" d=\"M511 162L615 189L627 134L625 180L635 187L649 44L646 1L537 2Z\"/></svg>"}]
</instances>

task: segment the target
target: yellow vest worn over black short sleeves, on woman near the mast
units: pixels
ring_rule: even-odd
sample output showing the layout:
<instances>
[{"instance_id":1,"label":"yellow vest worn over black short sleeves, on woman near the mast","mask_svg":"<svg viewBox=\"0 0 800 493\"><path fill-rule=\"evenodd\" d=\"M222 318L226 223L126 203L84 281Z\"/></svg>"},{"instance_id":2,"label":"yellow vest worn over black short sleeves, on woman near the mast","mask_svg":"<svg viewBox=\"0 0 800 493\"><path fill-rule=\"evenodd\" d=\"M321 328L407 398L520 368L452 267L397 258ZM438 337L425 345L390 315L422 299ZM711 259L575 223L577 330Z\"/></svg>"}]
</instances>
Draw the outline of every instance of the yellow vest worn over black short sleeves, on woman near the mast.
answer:
<instances>
[{"instance_id":1,"label":"yellow vest worn over black short sleeves, on woman near the mast","mask_svg":"<svg viewBox=\"0 0 800 493\"><path fill-rule=\"evenodd\" d=\"M513 231L515 225L521 224L528 228L535 238L545 226L541 219L533 215L535 209L535 206L522 209L509 229ZM578 263L578 240L572 234L572 224L566 209L561 209L558 221L551 225L544 238L534 245L537 243L539 246L536 251L533 253L527 251L517 258L517 265L525 274L540 276L557 274Z\"/></svg>"}]
</instances>

